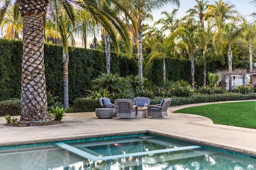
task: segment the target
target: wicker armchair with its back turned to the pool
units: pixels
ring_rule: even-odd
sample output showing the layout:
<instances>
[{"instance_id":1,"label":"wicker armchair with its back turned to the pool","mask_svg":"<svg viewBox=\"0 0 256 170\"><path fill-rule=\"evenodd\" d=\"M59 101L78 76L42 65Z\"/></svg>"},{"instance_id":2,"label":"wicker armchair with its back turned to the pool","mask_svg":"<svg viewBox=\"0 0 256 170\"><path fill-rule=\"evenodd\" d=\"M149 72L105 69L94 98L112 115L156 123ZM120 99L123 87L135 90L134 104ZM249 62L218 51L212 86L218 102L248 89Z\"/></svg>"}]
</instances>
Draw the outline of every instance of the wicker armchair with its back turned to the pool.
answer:
<instances>
[{"instance_id":1,"label":"wicker armchair with its back turned to the pool","mask_svg":"<svg viewBox=\"0 0 256 170\"><path fill-rule=\"evenodd\" d=\"M137 115L137 106L130 99L116 99L114 106L119 120L133 120Z\"/></svg>"}]
</instances>

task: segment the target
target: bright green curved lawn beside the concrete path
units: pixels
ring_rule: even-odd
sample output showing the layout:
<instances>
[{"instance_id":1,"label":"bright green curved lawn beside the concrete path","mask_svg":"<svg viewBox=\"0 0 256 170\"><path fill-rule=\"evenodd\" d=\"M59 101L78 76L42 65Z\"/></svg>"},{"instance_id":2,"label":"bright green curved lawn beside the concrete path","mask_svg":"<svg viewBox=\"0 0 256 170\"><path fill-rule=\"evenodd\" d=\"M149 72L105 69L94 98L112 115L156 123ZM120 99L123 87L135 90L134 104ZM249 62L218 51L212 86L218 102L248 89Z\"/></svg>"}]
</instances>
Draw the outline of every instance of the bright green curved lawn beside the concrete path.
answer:
<instances>
[{"instance_id":1,"label":"bright green curved lawn beside the concrete path","mask_svg":"<svg viewBox=\"0 0 256 170\"><path fill-rule=\"evenodd\" d=\"M202 115L212 119L215 124L256 129L256 101L187 107L175 113Z\"/></svg>"}]
</instances>

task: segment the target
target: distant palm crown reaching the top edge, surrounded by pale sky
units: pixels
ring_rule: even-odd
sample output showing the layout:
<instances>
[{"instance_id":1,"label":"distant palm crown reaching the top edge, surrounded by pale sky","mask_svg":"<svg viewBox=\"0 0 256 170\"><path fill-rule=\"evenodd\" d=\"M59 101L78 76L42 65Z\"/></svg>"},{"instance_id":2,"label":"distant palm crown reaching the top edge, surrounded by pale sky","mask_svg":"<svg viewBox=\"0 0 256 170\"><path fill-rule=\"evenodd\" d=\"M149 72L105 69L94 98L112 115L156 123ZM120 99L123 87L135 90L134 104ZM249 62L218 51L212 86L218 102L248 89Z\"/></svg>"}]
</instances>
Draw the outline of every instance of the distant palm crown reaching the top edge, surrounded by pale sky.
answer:
<instances>
[{"instance_id":1,"label":"distant palm crown reaching the top edge, surrounded by pale sky","mask_svg":"<svg viewBox=\"0 0 256 170\"><path fill-rule=\"evenodd\" d=\"M189 13L192 16L198 16L199 23L201 27L204 27L204 15L206 12L206 9L208 7L209 1L206 0L196 0L197 5L194 6L194 8L190 8L186 11L186 13Z\"/></svg>"}]
</instances>

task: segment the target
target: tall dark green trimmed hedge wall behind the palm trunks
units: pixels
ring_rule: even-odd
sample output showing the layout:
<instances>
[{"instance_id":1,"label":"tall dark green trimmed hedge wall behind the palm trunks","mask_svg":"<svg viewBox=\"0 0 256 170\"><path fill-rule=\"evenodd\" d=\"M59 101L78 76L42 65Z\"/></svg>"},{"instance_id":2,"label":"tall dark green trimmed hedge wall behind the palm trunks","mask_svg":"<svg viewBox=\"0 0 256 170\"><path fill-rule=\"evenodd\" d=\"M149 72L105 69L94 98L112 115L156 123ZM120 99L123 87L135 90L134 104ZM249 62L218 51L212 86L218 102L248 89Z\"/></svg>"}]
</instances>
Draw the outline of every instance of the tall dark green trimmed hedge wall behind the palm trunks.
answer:
<instances>
[{"instance_id":1,"label":"tall dark green trimmed hedge wall behind the palm trunks","mask_svg":"<svg viewBox=\"0 0 256 170\"><path fill-rule=\"evenodd\" d=\"M0 101L10 98L20 98L22 63L22 41L0 39ZM63 65L62 46L45 44L44 63L46 73L46 88L53 96L63 100ZM138 74L136 59L123 59L111 53L111 72L125 77ZM209 68L210 70L210 68ZM106 72L106 58L103 51L84 48L69 49L69 100L87 96L85 90L91 90L91 80ZM202 84L202 67L195 68L195 81ZM146 75L152 84L161 85L162 61L155 61L152 69ZM191 81L190 60L167 58L166 78L168 80Z\"/></svg>"}]
</instances>

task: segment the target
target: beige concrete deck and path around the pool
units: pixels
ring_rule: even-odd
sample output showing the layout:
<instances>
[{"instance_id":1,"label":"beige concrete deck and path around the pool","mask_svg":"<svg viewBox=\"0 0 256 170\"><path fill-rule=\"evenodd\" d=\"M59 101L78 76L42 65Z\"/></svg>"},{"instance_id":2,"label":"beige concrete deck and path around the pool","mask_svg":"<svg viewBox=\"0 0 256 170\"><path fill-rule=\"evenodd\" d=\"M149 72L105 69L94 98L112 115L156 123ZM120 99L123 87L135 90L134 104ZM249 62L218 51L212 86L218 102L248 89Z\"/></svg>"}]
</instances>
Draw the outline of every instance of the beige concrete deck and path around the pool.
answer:
<instances>
[{"instance_id":1,"label":"beige concrete deck and path around the pool","mask_svg":"<svg viewBox=\"0 0 256 170\"><path fill-rule=\"evenodd\" d=\"M184 107L201 105L204 104L169 107L166 119L147 117L124 121L116 117L98 119L95 112L66 113L62 124L36 127L5 126L6 120L0 117L0 147L149 133L256 156L256 129L217 125L207 117L173 113Z\"/></svg>"}]
</instances>

